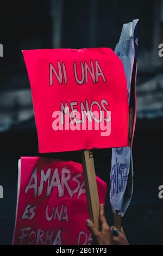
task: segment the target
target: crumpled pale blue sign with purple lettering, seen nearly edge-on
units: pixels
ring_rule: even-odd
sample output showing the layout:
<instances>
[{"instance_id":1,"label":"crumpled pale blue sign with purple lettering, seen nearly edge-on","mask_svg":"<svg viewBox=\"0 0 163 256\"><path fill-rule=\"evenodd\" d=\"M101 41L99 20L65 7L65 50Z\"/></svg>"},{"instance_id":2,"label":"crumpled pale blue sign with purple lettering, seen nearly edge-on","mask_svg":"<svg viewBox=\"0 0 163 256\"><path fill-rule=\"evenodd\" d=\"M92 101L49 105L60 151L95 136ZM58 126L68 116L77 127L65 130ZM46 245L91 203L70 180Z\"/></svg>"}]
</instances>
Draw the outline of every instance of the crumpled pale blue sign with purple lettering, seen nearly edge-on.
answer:
<instances>
[{"instance_id":1,"label":"crumpled pale blue sign with purple lettering, seen nearly edge-on","mask_svg":"<svg viewBox=\"0 0 163 256\"><path fill-rule=\"evenodd\" d=\"M129 137L131 145L136 121L138 21L139 20L133 20L123 25L120 40L115 48L115 53L122 60L127 78L128 103L131 113L129 116ZM133 193L133 160L131 147L112 148L110 181L110 203L112 210L113 212L118 210L118 214L123 216L128 208Z\"/></svg>"}]
</instances>

